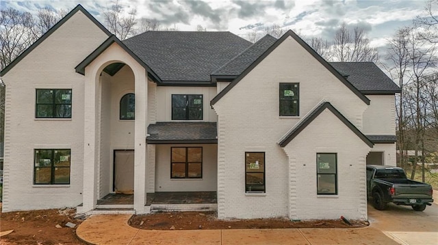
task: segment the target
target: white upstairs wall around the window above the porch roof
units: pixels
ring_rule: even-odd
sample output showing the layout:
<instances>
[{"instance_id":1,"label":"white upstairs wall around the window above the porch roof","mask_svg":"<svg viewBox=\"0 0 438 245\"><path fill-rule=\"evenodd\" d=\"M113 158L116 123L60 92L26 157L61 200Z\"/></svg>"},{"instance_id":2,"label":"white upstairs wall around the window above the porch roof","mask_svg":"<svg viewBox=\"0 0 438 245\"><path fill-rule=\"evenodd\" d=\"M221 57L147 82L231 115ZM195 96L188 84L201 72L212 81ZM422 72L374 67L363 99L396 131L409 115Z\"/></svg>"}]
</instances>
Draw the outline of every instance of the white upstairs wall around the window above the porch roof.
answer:
<instances>
[{"instance_id":1,"label":"white upstairs wall around the window above the porch roof","mask_svg":"<svg viewBox=\"0 0 438 245\"><path fill-rule=\"evenodd\" d=\"M157 121L172 121L172 94L202 94L203 120L217 121L210 101L216 96L216 87L157 87Z\"/></svg>"}]
</instances>

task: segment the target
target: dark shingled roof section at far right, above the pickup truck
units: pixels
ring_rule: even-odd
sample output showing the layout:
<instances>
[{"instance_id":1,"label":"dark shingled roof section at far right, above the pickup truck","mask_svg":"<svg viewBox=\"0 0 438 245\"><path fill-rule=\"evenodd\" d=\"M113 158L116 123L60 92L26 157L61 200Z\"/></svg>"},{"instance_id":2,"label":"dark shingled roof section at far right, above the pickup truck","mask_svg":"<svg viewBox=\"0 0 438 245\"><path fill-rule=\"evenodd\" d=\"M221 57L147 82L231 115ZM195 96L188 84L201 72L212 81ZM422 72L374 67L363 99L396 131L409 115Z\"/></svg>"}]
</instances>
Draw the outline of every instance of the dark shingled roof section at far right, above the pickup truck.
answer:
<instances>
[{"instance_id":1,"label":"dark shingled roof section at far right, above the pickup truck","mask_svg":"<svg viewBox=\"0 0 438 245\"><path fill-rule=\"evenodd\" d=\"M333 68L346 74L347 80L355 85L362 93L399 93L396 85L373 62L329 62Z\"/></svg>"}]
</instances>

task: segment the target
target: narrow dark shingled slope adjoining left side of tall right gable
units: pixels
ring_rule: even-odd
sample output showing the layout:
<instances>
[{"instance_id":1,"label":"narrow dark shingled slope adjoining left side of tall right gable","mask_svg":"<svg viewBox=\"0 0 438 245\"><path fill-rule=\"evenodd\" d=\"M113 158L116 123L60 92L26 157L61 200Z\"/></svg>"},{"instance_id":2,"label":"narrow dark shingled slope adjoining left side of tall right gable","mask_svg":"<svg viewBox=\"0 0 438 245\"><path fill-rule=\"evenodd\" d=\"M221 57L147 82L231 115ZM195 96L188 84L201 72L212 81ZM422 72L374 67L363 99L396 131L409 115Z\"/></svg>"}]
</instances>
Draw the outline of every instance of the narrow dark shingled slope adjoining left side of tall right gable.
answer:
<instances>
[{"instance_id":1,"label":"narrow dark shingled slope adjoining left side of tall right gable","mask_svg":"<svg viewBox=\"0 0 438 245\"><path fill-rule=\"evenodd\" d=\"M263 38L255 42L255 44L246 48L245 51L231 59L224 66L213 72L214 76L227 75L227 76L239 76L244 72L250 64L252 64L260 55L262 55L274 42L276 38L272 35L265 35Z\"/></svg>"}]
</instances>

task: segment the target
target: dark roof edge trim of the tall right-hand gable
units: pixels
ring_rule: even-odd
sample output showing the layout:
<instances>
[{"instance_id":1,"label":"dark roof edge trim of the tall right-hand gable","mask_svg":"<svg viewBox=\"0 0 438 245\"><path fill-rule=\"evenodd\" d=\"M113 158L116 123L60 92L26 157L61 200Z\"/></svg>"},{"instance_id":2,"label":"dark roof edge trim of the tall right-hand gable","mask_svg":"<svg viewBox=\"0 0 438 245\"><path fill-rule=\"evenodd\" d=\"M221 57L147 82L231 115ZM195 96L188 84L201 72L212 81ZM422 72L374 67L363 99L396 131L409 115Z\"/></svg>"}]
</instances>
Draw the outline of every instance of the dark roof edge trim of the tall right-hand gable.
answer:
<instances>
[{"instance_id":1,"label":"dark roof edge trim of the tall right-hand gable","mask_svg":"<svg viewBox=\"0 0 438 245\"><path fill-rule=\"evenodd\" d=\"M357 97L359 97L363 102L365 102L365 104L370 104L370 100L366 98L366 96L364 96L363 93L361 93L361 91L359 91L355 86L353 86L344 76L342 76L342 74L340 74L337 70L335 70L333 66L331 66L320 55L318 55L318 53L316 53L306 42L304 42L304 40L298 37L298 35L296 35L296 33L294 33L294 31L291 30L287 31L283 36L281 36L281 38L279 38L279 40L276 40L276 42L274 42L274 44L272 44L272 46L270 46L270 48L268 48L262 55L260 55L257 59L255 59L255 61L251 63L250 66L248 66L244 70L244 72L242 72L242 74L237 76L237 78L235 78L233 82L231 82L227 87L225 87L222 91L220 91L220 93L218 93L218 95L215 96L213 100L211 100L210 104L211 105L216 104L216 102L218 102L220 98L222 98L225 94L227 94L228 91L230 91L237 83L240 82L240 80L242 80L242 78L246 76L246 74L248 74L251 70L253 70L263 59L265 59L270 53L272 53L272 51L274 51L274 49L277 46L279 46L288 37L294 38L294 40L298 42L298 44L300 44L302 48L305 48L307 52L309 52L317 61L319 61L322 64L322 66L324 66L327 70L329 70L329 72L331 72L339 81L344 83L344 85L346 85L348 89L350 89L353 93L356 94Z\"/></svg>"}]
</instances>

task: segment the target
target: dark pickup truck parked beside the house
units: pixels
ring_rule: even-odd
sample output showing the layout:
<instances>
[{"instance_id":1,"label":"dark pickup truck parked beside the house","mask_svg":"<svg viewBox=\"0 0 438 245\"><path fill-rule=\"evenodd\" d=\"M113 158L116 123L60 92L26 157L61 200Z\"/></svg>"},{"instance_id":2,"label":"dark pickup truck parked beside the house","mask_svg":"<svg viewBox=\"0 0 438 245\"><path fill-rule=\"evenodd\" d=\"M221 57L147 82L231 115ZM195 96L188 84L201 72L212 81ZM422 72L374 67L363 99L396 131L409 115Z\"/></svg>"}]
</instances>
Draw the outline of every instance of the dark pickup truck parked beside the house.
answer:
<instances>
[{"instance_id":1,"label":"dark pickup truck parked beside the house","mask_svg":"<svg viewBox=\"0 0 438 245\"><path fill-rule=\"evenodd\" d=\"M423 211L433 203L432 192L430 184L408 179L402 168L367 165L367 195L376 210L395 203Z\"/></svg>"}]
</instances>

